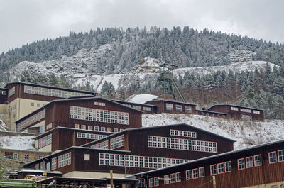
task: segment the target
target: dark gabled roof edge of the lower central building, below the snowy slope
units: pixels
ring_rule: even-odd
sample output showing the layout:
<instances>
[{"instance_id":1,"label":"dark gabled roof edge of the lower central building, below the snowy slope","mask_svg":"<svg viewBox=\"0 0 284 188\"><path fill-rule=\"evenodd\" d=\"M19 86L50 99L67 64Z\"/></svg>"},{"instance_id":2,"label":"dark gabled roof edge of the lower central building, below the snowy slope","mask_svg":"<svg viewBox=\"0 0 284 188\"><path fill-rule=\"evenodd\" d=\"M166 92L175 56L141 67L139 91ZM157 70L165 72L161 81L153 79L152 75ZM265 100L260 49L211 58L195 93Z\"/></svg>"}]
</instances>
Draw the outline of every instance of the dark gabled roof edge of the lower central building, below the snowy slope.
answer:
<instances>
[{"instance_id":1,"label":"dark gabled roof edge of the lower central building, below the snowy slope","mask_svg":"<svg viewBox=\"0 0 284 188\"><path fill-rule=\"evenodd\" d=\"M202 128L197 128L197 127L195 127L195 126L190 126L190 125L187 124L187 123L180 123L180 124L171 124L171 125L166 125L166 126L150 126L150 127L141 127L141 128L126 128L126 129L124 129L124 131L111 134L110 136L107 136L107 137L102 138L102 139L100 139L100 140L94 140L94 141L92 141L92 142L85 143L84 145L81 145L81 146L82 146L82 147L85 147L86 145L92 145L92 144L94 144L94 143L99 143L99 142L101 142L102 140L106 140L106 139L108 139L108 138L111 138L111 137L114 137L114 136L118 136L118 135L121 135L122 133L126 133L126 132L139 131L139 130L147 130L147 129L151 130L151 129L153 129L153 128L164 128L164 127L170 127L170 126L174 126L174 127L175 127L175 126L188 126L188 127L190 127L190 128L196 128L198 131L203 131L203 132L205 132L205 133L212 134L212 135L217 136L217 137L219 137L219 138L223 138L223 139L229 140L229 141L231 141L231 142L236 142L236 140L232 140L231 138L226 138L226 137L224 137L224 136L220 136L220 135L215 134L215 133L212 133L212 132L210 132L210 131L206 131L206 130L204 130L204 129L202 129Z\"/></svg>"}]
</instances>

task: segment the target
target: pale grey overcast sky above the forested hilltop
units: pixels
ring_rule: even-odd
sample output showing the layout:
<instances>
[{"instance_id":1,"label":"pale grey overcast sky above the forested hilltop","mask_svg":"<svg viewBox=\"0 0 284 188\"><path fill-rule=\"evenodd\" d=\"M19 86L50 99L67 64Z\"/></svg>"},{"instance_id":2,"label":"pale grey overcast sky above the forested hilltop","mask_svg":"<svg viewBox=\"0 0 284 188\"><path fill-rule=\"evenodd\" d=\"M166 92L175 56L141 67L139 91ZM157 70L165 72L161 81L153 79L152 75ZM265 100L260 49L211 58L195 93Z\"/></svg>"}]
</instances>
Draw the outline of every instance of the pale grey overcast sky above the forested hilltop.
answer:
<instances>
[{"instance_id":1,"label":"pale grey overcast sky above the forested hilltop","mask_svg":"<svg viewBox=\"0 0 284 188\"><path fill-rule=\"evenodd\" d=\"M284 43L283 7L282 0L0 0L0 52L120 26L190 26Z\"/></svg>"}]
</instances>

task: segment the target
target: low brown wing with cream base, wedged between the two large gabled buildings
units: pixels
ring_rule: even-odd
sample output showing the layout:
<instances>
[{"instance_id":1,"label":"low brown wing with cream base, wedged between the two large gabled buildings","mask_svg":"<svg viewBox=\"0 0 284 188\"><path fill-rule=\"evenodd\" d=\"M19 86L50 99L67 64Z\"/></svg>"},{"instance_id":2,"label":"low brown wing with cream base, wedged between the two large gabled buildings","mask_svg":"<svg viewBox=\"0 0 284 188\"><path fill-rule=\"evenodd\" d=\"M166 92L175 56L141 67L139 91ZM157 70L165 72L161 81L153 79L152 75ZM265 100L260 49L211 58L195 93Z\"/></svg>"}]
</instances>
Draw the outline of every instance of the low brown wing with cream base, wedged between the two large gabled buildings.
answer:
<instances>
[{"instance_id":1,"label":"low brown wing with cream base, wedged between the two large gabled buildings","mask_svg":"<svg viewBox=\"0 0 284 188\"><path fill-rule=\"evenodd\" d=\"M58 126L35 137L35 148L40 151L56 152L71 146L80 146L99 140L111 134L109 132Z\"/></svg>"}]
</instances>

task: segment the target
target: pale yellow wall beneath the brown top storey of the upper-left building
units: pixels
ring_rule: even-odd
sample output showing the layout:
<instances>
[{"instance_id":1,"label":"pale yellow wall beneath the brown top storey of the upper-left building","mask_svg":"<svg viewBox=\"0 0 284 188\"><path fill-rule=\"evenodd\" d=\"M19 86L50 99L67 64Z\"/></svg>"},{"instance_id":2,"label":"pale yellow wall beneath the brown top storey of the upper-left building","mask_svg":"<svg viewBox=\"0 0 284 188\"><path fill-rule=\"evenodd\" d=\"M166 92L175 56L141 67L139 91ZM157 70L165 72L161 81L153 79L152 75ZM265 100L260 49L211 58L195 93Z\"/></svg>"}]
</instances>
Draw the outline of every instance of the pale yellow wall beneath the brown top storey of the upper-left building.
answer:
<instances>
[{"instance_id":1,"label":"pale yellow wall beneath the brown top storey of the upper-left building","mask_svg":"<svg viewBox=\"0 0 284 188\"><path fill-rule=\"evenodd\" d=\"M31 106L31 104L34 104L34 106ZM48 101L38 101L38 100L31 100L31 99L15 99L11 101L11 103L8 104L7 111L10 107L16 106L16 109L11 111L9 114L10 121L8 122L8 127L11 131L16 131L16 123L20 118L23 118L24 116L31 114L31 112L39 109L40 107L44 106L45 104L48 104ZM40 122L40 125L42 126L43 123Z\"/></svg>"}]
</instances>

